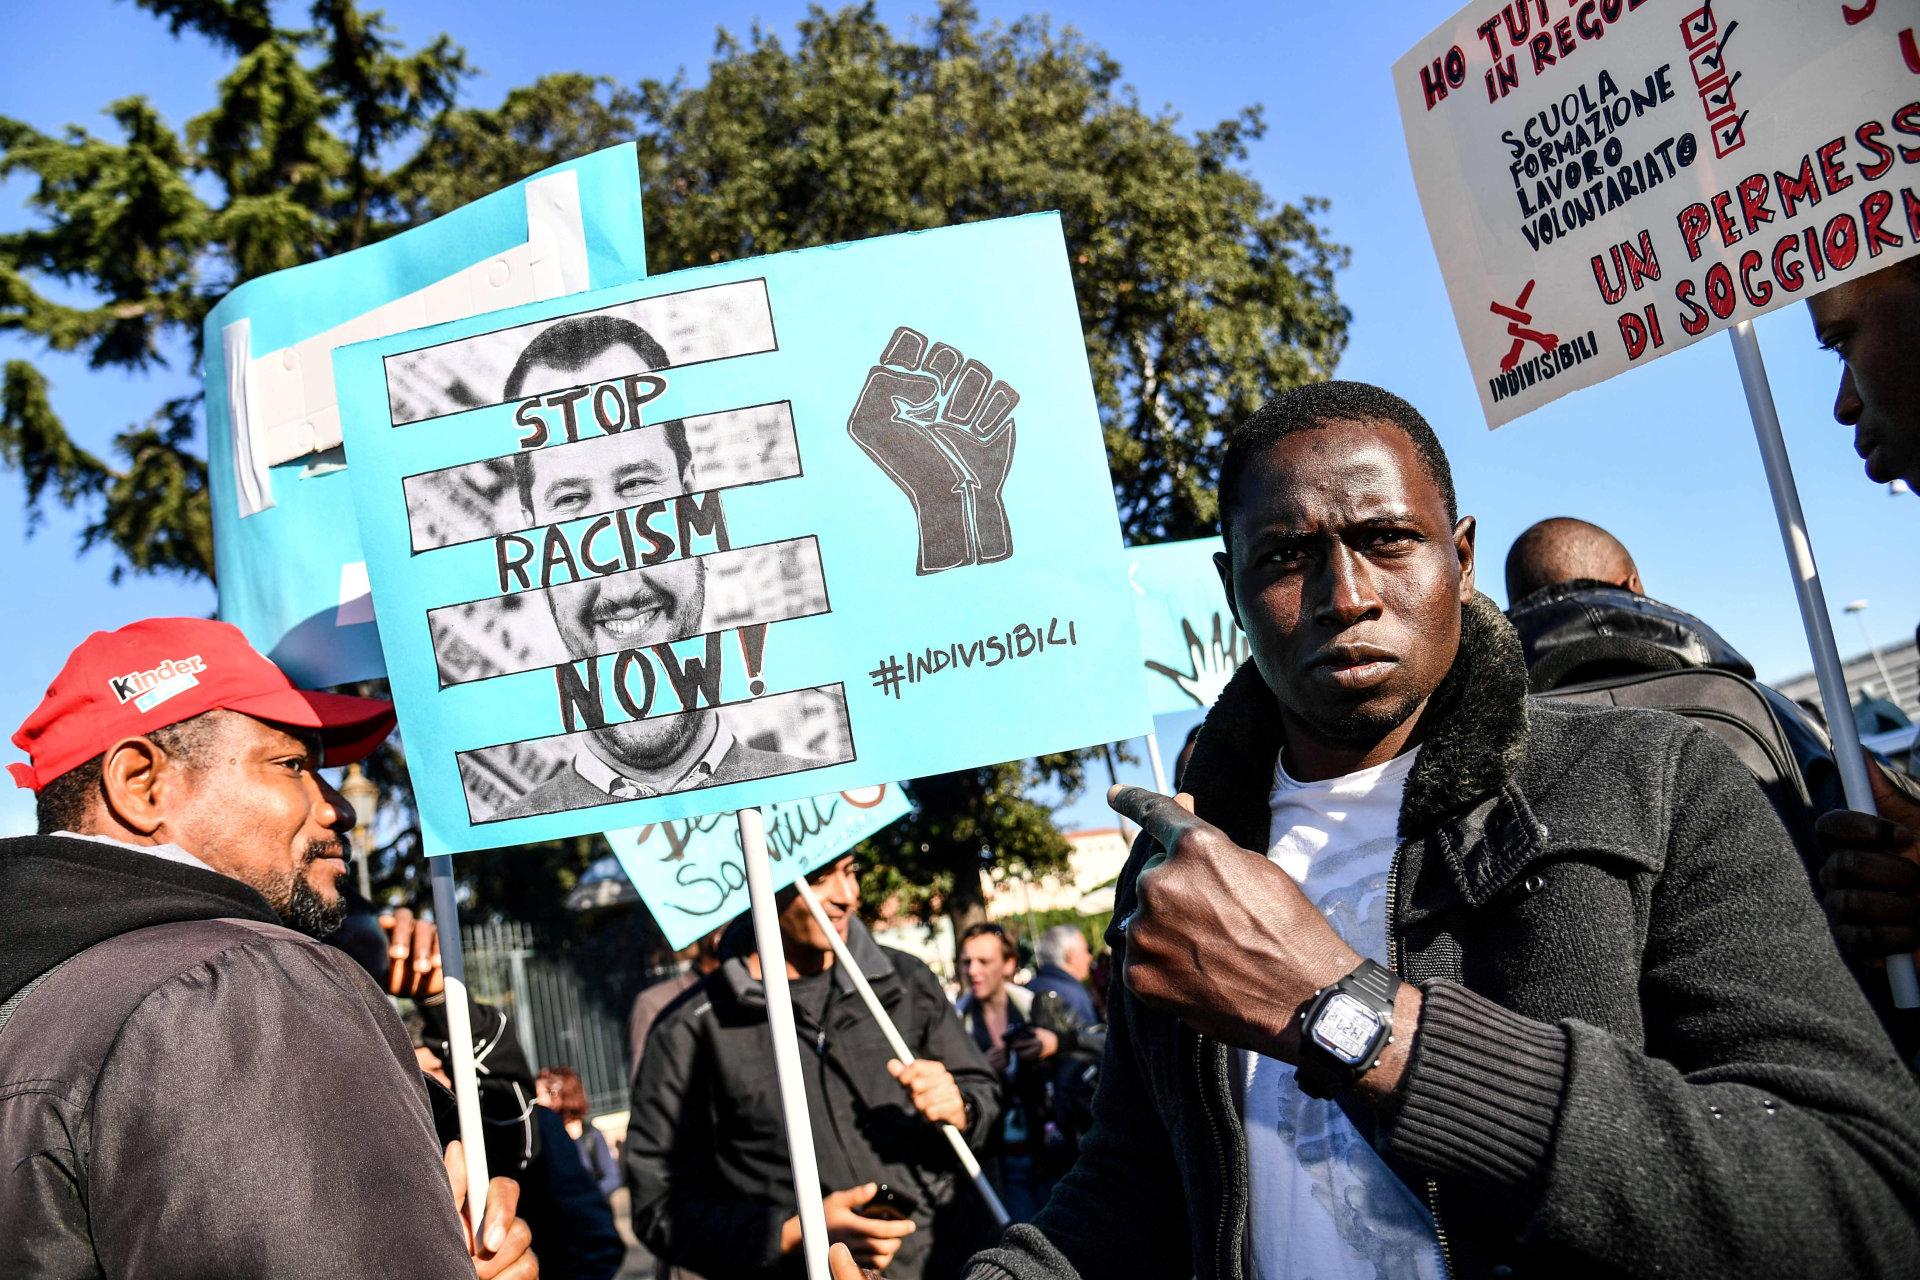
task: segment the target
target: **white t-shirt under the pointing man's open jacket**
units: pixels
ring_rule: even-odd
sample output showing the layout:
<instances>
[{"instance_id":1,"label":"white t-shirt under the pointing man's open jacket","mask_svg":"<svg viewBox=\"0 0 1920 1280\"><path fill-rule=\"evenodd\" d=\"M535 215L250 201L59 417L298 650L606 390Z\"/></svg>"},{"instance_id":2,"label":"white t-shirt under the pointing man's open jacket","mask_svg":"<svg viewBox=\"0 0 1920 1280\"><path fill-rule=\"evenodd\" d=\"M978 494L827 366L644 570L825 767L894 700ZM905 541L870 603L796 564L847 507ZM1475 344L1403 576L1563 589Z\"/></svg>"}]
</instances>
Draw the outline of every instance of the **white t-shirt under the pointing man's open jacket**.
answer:
<instances>
[{"instance_id":1,"label":"white t-shirt under the pointing man's open jacket","mask_svg":"<svg viewBox=\"0 0 1920 1280\"><path fill-rule=\"evenodd\" d=\"M1273 770L1267 858L1348 946L1386 963L1386 877L1415 752L1319 783ZM1294 1069L1240 1052L1258 1280L1440 1280L1432 1215Z\"/></svg>"}]
</instances>

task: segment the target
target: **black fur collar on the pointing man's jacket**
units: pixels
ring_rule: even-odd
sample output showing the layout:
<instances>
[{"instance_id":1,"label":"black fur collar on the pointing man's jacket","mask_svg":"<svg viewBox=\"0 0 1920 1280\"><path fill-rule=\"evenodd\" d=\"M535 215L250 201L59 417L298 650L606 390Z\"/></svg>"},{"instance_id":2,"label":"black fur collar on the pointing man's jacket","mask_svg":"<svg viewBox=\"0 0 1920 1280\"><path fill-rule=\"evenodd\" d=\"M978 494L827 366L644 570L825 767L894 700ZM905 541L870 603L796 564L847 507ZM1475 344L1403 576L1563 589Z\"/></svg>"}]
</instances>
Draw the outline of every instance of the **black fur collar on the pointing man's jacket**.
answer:
<instances>
[{"instance_id":1,"label":"black fur collar on the pointing man's jacket","mask_svg":"<svg viewBox=\"0 0 1920 1280\"><path fill-rule=\"evenodd\" d=\"M1402 839L1471 810L1513 779L1526 754L1526 666L1521 641L1484 595L1461 606L1459 654L1428 702L1421 758L1407 777ZM1240 846L1267 846L1281 712L1248 660L1208 712L1187 766L1202 818Z\"/></svg>"}]
</instances>

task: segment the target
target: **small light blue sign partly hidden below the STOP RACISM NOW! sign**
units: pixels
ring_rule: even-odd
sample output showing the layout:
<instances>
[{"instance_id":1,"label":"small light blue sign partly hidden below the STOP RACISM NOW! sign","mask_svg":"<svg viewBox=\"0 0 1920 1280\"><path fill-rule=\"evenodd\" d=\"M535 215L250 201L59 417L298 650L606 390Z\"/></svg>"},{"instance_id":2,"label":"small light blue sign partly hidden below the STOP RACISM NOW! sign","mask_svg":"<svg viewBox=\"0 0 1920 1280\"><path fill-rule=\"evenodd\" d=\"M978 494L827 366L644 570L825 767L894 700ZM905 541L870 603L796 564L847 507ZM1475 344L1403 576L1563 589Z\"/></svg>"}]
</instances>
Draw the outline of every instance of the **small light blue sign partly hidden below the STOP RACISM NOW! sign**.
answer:
<instances>
[{"instance_id":1,"label":"small light blue sign partly hidden below the STOP RACISM NOW! sign","mask_svg":"<svg viewBox=\"0 0 1920 1280\"><path fill-rule=\"evenodd\" d=\"M828 865L914 812L897 783L835 791L766 808L774 889ZM747 910L747 864L732 814L703 814L609 831L607 844L674 950Z\"/></svg>"}]
</instances>

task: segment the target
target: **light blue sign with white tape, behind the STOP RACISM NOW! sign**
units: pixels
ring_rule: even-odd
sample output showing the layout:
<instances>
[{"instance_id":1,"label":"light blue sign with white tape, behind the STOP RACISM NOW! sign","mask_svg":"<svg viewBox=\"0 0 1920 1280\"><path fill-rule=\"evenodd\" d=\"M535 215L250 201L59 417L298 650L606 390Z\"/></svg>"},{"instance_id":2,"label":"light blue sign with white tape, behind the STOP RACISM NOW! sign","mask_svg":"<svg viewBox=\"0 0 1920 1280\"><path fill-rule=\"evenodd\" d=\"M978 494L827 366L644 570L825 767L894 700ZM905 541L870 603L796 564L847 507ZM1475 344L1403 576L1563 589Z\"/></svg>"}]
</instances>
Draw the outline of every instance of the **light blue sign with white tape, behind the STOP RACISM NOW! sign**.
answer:
<instances>
[{"instance_id":1,"label":"light blue sign with white tape, behind the STOP RACISM NOW! sign","mask_svg":"<svg viewBox=\"0 0 1920 1280\"><path fill-rule=\"evenodd\" d=\"M303 685L384 676L334 347L645 274L628 144L228 294L205 322L221 618Z\"/></svg>"}]
</instances>

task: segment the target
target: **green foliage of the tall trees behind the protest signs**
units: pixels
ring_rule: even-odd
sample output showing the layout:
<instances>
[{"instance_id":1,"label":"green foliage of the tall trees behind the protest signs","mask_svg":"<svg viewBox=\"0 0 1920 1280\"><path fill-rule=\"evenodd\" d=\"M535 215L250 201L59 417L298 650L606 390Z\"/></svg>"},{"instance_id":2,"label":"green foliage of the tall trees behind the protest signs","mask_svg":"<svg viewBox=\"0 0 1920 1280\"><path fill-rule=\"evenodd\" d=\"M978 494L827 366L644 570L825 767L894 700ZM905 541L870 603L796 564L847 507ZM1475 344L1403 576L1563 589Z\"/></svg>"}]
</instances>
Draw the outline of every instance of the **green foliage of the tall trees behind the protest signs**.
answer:
<instances>
[{"instance_id":1,"label":"green foliage of the tall trees behind the protest signs","mask_svg":"<svg viewBox=\"0 0 1920 1280\"><path fill-rule=\"evenodd\" d=\"M301 29L276 27L267 0L138 4L234 54L213 109L175 132L127 98L108 109L111 138L0 119L0 175L33 175L42 215L0 236L0 332L100 368L198 361L202 319L240 280L628 138L653 271L1058 209L1137 543L1210 532L1221 428L1329 376L1346 342L1346 249L1319 228L1323 205L1275 203L1244 171L1260 109L1185 132L1044 17L987 25L943 0L908 36L872 4L814 8L791 46L762 27L720 33L701 84L551 75L497 107L463 107L459 48L442 36L403 52L351 0L315 0ZM56 301L46 280L88 301ZM108 461L75 443L33 363L13 361L0 457L31 512L86 509L84 541L113 547L123 568L211 578L194 416L192 401L161 407ZM981 910L981 848L1016 873L1064 867L1066 841L1031 796L1075 794L1083 768L1068 754L920 779L920 814L874 842L885 871L870 889L964 923Z\"/></svg>"}]
</instances>

